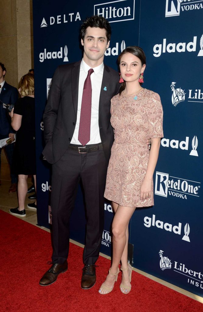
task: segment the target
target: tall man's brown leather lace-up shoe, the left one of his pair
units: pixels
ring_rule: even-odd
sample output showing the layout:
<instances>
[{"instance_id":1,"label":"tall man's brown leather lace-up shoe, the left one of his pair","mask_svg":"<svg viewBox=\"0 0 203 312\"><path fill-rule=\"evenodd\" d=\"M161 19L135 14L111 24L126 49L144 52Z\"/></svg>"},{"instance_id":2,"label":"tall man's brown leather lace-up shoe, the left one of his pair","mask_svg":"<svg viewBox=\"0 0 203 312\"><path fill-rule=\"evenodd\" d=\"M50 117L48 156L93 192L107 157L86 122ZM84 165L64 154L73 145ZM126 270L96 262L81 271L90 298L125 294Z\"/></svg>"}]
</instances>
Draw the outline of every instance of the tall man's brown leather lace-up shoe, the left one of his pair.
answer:
<instances>
[{"instance_id":1,"label":"tall man's brown leather lace-up shoe, the left one of his pair","mask_svg":"<svg viewBox=\"0 0 203 312\"><path fill-rule=\"evenodd\" d=\"M51 262L53 263L53 262ZM41 286L48 286L53 284L60 273L68 270L68 263L65 261L63 264L53 263L51 268L42 276L40 280Z\"/></svg>"}]
</instances>

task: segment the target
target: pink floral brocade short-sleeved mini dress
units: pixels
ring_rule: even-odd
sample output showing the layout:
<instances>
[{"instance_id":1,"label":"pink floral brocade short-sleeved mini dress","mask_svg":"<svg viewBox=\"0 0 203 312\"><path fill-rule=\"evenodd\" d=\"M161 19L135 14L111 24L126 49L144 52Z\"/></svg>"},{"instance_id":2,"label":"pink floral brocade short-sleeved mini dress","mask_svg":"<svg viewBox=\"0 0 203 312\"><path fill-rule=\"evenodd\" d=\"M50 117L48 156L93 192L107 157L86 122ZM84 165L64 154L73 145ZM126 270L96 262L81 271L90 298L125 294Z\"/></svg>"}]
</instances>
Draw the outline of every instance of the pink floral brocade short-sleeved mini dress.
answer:
<instances>
[{"instance_id":1,"label":"pink floral brocade short-sleeved mini dress","mask_svg":"<svg viewBox=\"0 0 203 312\"><path fill-rule=\"evenodd\" d=\"M147 139L163 137L160 96L142 89L136 96L115 95L111 100L111 124L115 141L106 179L104 197L126 207L148 207L152 196L140 200L140 187L149 159Z\"/></svg>"}]
</instances>

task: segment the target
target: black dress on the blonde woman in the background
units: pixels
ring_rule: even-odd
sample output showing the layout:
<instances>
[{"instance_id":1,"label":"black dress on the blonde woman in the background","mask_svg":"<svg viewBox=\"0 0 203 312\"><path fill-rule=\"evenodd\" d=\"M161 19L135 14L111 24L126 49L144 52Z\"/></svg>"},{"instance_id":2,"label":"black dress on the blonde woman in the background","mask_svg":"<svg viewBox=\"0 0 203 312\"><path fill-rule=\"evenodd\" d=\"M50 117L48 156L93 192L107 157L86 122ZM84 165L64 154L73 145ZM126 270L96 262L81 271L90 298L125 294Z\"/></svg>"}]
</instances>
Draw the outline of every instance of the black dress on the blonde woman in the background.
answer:
<instances>
[{"instance_id":1,"label":"black dress on the blonde woman in the background","mask_svg":"<svg viewBox=\"0 0 203 312\"><path fill-rule=\"evenodd\" d=\"M14 114L22 115L21 127L16 134L14 170L17 174L35 175L35 99L30 96L18 99Z\"/></svg>"}]
</instances>

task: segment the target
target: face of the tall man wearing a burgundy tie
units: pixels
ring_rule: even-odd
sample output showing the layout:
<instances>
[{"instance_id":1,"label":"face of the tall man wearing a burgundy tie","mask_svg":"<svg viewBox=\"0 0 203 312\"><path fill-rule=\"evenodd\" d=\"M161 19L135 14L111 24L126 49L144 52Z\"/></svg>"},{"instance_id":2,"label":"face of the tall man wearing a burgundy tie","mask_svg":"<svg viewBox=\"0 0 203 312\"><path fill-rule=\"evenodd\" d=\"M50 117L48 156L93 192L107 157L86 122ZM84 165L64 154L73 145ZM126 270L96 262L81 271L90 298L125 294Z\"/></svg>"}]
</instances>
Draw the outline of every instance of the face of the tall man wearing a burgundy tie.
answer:
<instances>
[{"instance_id":1,"label":"face of the tall man wearing a burgundy tie","mask_svg":"<svg viewBox=\"0 0 203 312\"><path fill-rule=\"evenodd\" d=\"M84 46L84 61L99 61L102 63L104 53L109 47L107 42L106 30L99 27L87 27L84 40L81 39ZM97 63L99 63L97 62Z\"/></svg>"}]
</instances>

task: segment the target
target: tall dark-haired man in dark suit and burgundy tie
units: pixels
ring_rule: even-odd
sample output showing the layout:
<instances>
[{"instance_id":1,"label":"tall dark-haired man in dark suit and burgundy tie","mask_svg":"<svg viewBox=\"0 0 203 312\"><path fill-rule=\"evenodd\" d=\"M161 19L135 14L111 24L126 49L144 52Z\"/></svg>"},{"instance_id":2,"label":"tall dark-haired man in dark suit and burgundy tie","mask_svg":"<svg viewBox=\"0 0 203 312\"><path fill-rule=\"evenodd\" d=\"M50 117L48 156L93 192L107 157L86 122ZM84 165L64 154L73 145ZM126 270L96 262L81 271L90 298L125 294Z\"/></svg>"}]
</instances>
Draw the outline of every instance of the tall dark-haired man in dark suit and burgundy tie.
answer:
<instances>
[{"instance_id":1,"label":"tall dark-haired man in dark suit and burgundy tie","mask_svg":"<svg viewBox=\"0 0 203 312\"><path fill-rule=\"evenodd\" d=\"M43 155L52 164L53 265L40 285L52 284L67 270L69 219L81 179L87 210L81 287L89 289L96 281L106 173L114 141L111 98L120 85L118 72L103 63L111 36L109 22L103 17L90 17L81 26L80 35L83 59L56 69L43 115Z\"/></svg>"}]
</instances>

